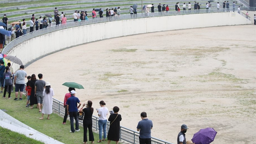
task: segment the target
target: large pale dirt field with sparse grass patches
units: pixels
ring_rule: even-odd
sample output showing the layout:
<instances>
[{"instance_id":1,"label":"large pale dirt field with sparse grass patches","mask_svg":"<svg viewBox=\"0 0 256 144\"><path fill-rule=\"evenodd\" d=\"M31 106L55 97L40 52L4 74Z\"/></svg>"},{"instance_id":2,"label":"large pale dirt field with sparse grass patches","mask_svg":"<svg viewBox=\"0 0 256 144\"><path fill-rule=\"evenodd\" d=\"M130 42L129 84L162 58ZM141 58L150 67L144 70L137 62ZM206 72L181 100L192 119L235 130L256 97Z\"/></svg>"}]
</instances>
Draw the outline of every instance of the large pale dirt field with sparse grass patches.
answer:
<instances>
[{"instance_id":1,"label":"large pale dirt field with sparse grass patches","mask_svg":"<svg viewBox=\"0 0 256 144\"><path fill-rule=\"evenodd\" d=\"M254 25L102 40L49 55L25 70L42 73L61 101L68 92L61 84L82 84L82 103L118 106L121 125L132 130L147 112L156 138L176 144L180 126L187 124L187 140L213 127L218 133L212 144L256 144Z\"/></svg>"}]
</instances>

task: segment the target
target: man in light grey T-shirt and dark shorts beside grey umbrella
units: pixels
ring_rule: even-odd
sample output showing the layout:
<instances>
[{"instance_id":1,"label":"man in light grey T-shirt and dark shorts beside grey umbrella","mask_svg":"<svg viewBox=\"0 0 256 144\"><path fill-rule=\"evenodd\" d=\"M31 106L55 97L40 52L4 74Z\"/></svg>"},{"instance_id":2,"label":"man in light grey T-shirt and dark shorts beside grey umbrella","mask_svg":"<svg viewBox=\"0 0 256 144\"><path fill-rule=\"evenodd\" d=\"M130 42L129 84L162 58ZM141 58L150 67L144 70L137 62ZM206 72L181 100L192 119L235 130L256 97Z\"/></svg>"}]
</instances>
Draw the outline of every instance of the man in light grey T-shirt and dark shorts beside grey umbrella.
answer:
<instances>
[{"instance_id":1,"label":"man in light grey T-shirt and dark shorts beside grey umbrella","mask_svg":"<svg viewBox=\"0 0 256 144\"><path fill-rule=\"evenodd\" d=\"M14 84L15 84L15 99L18 100L18 93L20 90L20 100L22 100L23 89L25 86L25 78L27 77L26 72L23 70L24 66L20 66L20 70L18 70L14 75Z\"/></svg>"}]
</instances>

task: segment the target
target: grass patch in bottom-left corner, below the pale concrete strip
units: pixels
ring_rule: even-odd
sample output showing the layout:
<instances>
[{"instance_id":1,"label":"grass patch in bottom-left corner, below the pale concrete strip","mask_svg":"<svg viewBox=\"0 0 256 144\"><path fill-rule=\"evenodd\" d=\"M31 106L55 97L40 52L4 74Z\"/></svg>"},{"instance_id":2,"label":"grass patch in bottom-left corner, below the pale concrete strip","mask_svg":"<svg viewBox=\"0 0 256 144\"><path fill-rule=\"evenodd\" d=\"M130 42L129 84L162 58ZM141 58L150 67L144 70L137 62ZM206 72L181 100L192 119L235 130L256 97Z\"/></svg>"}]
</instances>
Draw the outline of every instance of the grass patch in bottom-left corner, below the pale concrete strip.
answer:
<instances>
[{"instance_id":1,"label":"grass patch in bottom-left corner, below the pale concrete strip","mask_svg":"<svg viewBox=\"0 0 256 144\"><path fill-rule=\"evenodd\" d=\"M44 144L26 135L0 127L0 144Z\"/></svg>"}]
</instances>

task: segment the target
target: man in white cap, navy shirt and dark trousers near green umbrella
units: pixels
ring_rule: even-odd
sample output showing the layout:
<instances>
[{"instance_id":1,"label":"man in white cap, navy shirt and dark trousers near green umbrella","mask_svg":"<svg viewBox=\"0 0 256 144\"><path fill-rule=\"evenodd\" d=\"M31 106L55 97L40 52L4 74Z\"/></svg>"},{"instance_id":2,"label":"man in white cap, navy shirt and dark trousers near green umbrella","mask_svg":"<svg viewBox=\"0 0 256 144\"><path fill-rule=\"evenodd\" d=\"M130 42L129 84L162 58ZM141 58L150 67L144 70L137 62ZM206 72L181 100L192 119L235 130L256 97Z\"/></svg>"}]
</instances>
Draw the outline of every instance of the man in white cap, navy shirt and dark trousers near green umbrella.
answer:
<instances>
[{"instance_id":1,"label":"man in white cap, navy shirt and dark trousers near green umbrella","mask_svg":"<svg viewBox=\"0 0 256 144\"><path fill-rule=\"evenodd\" d=\"M79 107L81 106L81 102L79 101L79 99L76 96L76 91L71 90L70 92L71 97L67 99L67 115L70 115L70 125L71 125L71 130L70 132L75 132L74 129L74 118L76 121L76 131L79 132L79 122L78 122L78 116L77 116L77 112ZM79 103L79 106L77 106L77 103Z\"/></svg>"}]
</instances>

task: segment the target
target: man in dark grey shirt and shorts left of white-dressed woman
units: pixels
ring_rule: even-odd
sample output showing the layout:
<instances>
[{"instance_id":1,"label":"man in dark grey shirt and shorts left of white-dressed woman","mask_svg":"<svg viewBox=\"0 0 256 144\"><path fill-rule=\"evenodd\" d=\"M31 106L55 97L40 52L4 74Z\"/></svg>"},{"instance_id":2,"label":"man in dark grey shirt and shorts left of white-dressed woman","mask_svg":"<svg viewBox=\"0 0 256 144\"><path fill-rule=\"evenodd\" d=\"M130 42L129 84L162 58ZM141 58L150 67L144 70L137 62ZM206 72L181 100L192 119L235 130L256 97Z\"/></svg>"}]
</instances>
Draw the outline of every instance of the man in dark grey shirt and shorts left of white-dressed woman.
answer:
<instances>
[{"instance_id":1,"label":"man in dark grey shirt and shorts left of white-dressed woman","mask_svg":"<svg viewBox=\"0 0 256 144\"><path fill-rule=\"evenodd\" d=\"M38 100L39 113L42 113L44 96L43 92L45 89L45 81L43 81L43 75L38 74L39 80L35 82L35 96Z\"/></svg>"}]
</instances>

